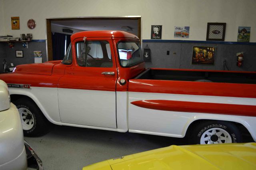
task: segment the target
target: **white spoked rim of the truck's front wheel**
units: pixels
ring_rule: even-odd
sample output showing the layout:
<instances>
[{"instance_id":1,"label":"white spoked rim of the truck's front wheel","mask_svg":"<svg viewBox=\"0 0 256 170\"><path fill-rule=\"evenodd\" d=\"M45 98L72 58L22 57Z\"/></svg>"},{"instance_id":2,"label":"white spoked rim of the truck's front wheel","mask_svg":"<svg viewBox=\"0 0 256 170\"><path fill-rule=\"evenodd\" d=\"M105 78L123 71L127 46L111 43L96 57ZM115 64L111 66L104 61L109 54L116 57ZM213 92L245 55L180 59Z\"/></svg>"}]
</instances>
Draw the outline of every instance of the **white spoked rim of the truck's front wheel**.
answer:
<instances>
[{"instance_id":1,"label":"white spoked rim of the truck's front wheel","mask_svg":"<svg viewBox=\"0 0 256 170\"><path fill-rule=\"evenodd\" d=\"M22 128L24 130L30 130L34 126L34 116L32 113L26 108L19 108L20 119L22 123Z\"/></svg>"}]
</instances>

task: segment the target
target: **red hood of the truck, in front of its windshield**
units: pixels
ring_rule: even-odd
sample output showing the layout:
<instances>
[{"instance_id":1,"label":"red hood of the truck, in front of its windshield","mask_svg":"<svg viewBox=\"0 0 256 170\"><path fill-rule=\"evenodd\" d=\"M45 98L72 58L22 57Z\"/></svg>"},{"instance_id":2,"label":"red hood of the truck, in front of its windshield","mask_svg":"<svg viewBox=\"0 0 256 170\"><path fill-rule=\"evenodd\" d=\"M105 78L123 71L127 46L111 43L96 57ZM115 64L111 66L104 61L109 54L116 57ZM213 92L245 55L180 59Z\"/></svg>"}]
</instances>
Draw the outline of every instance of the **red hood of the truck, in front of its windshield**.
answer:
<instances>
[{"instance_id":1,"label":"red hood of the truck, in front of its windshield","mask_svg":"<svg viewBox=\"0 0 256 170\"><path fill-rule=\"evenodd\" d=\"M17 65L14 68L13 72L15 72L15 73L30 73L30 74L51 75L53 66L60 63L60 62L61 62L61 60L48 61L48 62L45 62L45 63Z\"/></svg>"}]
</instances>

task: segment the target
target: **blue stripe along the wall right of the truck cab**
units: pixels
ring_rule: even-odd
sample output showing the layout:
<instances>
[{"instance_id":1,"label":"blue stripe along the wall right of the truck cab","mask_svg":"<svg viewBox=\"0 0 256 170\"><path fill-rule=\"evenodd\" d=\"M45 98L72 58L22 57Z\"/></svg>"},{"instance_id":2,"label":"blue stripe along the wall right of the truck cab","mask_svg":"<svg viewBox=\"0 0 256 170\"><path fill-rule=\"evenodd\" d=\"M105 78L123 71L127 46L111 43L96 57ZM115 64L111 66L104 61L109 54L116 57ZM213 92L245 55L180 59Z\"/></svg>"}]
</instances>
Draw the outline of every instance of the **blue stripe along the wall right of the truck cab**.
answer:
<instances>
[{"instance_id":1,"label":"blue stripe along the wall right of the truck cab","mask_svg":"<svg viewBox=\"0 0 256 170\"><path fill-rule=\"evenodd\" d=\"M142 40L142 42L215 43L215 44L256 45L256 42L217 42L217 41L194 41L194 40Z\"/></svg>"}]
</instances>

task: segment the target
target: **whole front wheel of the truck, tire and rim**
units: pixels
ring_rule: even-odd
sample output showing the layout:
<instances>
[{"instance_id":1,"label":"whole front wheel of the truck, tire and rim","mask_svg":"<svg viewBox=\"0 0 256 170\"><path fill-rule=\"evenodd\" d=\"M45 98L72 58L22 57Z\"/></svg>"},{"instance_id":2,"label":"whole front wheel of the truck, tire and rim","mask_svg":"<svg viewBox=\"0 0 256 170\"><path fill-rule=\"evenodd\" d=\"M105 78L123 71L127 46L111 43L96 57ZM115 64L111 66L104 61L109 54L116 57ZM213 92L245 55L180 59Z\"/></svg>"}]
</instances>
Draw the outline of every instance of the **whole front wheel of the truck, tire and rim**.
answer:
<instances>
[{"instance_id":1,"label":"whole front wheel of the truck, tire and rim","mask_svg":"<svg viewBox=\"0 0 256 170\"><path fill-rule=\"evenodd\" d=\"M20 98L13 103L20 113L24 136L39 136L48 132L49 122L34 101Z\"/></svg>"}]
</instances>

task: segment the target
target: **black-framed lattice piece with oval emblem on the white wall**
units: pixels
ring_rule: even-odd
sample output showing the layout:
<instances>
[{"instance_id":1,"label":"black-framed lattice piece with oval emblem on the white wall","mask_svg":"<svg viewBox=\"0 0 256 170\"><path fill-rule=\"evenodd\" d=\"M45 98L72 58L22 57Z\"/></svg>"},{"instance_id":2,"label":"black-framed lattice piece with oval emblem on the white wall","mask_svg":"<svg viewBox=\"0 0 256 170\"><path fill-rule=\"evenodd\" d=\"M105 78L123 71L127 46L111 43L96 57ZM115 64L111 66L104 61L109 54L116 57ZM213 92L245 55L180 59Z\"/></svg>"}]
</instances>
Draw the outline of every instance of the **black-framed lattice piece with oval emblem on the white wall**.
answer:
<instances>
[{"instance_id":1,"label":"black-framed lattice piece with oval emblem on the white wall","mask_svg":"<svg viewBox=\"0 0 256 170\"><path fill-rule=\"evenodd\" d=\"M208 22L206 41L224 41L226 23Z\"/></svg>"}]
</instances>

